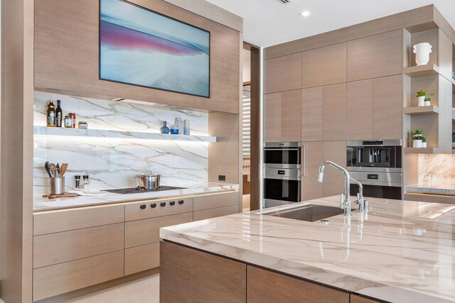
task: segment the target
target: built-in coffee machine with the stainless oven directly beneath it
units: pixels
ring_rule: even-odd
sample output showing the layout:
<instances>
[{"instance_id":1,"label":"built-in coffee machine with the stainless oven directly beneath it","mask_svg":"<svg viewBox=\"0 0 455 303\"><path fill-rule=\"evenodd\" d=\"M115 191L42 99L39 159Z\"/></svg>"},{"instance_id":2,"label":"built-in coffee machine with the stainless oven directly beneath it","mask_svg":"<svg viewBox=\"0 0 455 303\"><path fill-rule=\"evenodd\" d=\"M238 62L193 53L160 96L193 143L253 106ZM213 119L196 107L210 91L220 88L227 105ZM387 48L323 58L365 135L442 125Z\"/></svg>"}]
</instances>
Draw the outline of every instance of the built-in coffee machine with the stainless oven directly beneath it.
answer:
<instances>
[{"instance_id":1,"label":"built-in coffee machine with the stainless oven directly beneath it","mask_svg":"<svg viewBox=\"0 0 455 303\"><path fill-rule=\"evenodd\" d=\"M401 140L348 141L347 146L347 170L363 184L365 197L402 199ZM350 194L357 192L351 182Z\"/></svg>"}]
</instances>

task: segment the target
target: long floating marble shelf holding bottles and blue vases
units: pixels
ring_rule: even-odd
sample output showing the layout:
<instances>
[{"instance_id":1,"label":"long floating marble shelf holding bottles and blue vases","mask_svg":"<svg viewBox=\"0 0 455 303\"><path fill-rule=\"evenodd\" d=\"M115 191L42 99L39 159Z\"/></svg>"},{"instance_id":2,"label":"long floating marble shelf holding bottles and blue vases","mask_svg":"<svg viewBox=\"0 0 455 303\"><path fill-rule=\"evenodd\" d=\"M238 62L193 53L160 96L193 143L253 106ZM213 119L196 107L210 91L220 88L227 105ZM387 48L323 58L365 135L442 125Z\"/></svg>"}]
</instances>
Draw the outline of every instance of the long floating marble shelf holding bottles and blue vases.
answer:
<instances>
[{"instance_id":1,"label":"long floating marble shelf holding bottles and blue vases","mask_svg":"<svg viewBox=\"0 0 455 303\"><path fill-rule=\"evenodd\" d=\"M106 131L102 129L60 128L46 126L33 126L33 134L38 136L74 136L161 141L216 142L216 137L210 136L185 136L164 133L141 133L139 131Z\"/></svg>"}]
</instances>

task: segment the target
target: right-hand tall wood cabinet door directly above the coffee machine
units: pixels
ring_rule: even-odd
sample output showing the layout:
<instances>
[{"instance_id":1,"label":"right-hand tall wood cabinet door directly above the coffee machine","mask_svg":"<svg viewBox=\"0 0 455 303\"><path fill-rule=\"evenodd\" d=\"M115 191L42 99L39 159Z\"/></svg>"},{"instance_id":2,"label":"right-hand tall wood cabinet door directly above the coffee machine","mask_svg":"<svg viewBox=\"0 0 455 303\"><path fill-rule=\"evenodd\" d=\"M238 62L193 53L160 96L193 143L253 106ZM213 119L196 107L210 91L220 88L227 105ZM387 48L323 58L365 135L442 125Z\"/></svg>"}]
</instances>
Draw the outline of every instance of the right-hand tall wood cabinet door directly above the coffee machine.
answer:
<instances>
[{"instance_id":1,"label":"right-hand tall wood cabinet door directly above the coffee machine","mask_svg":"<svg viewBox=\"0 0 455 303\"><path fill-rule=\"evenodd\" d=\"M402 138L402 75L373 79L373 138Z\"/></svg>"}]
</instances>

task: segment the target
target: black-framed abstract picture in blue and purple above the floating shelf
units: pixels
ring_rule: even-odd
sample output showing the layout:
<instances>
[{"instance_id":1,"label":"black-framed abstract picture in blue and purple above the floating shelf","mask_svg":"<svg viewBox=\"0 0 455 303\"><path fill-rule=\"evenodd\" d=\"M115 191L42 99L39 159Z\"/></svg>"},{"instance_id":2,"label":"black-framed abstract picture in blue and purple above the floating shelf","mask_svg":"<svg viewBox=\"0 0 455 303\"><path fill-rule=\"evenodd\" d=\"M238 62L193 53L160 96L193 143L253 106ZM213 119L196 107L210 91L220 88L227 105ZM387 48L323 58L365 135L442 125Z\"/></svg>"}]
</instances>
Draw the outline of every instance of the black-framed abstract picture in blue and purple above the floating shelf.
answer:
<instances>
[{"instance_id":1,"label":"black-framed abstract picture in blue and purple above the floating shelf","mask_svg":"<svg viewBox=\"0 0 455 303\"><path fill-rule=\"evenodd\" d=\"M210 97L210 32L100 0L100 79Z\"/></svg>"}]
</instances>

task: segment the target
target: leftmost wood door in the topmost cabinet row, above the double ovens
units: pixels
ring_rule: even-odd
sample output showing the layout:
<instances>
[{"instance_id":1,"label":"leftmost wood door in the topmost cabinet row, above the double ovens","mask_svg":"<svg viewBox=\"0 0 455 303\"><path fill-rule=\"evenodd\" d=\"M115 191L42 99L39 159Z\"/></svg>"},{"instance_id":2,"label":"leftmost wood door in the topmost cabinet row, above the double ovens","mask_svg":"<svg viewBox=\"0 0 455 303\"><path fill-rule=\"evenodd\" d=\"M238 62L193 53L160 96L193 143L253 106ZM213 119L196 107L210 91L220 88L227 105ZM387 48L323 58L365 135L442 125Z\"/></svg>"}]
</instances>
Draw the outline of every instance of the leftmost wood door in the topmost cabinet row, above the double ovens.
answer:
<instances>
[{"instance_id":1,"label":"leftmost wood door in the topmost cabinet row, above the double ovens","mask_svg":"<svg viewBox=\"0 0 455 303\"><path fill-rule=\"evenodd\" d=\"M264 61L264 94L300 88L300 53Z\"/></svg>"}]
</instances>

